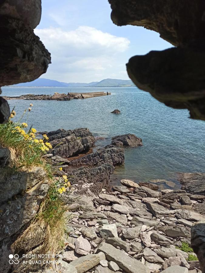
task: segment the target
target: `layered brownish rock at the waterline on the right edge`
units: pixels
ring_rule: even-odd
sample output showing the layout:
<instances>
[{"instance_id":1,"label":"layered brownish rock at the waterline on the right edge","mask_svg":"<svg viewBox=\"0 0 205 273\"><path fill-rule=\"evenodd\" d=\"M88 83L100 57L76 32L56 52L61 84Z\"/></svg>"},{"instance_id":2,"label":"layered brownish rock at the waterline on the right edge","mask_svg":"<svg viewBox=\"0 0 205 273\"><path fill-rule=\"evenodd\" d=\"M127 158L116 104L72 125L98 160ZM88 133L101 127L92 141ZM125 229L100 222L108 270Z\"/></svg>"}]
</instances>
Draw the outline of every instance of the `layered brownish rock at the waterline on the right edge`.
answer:
<instances>
[{"instance_id":1,"label":"layered brownish rock at the waterline on the right edge","mask_svg":"<svg viewBox=\"0 0 205 273\"><path fill-rule=\"evenodd\" d=\"M205 195L205 174L185 173L180 174L181 189L191 194Z\"/></svg>"}]
</instances>

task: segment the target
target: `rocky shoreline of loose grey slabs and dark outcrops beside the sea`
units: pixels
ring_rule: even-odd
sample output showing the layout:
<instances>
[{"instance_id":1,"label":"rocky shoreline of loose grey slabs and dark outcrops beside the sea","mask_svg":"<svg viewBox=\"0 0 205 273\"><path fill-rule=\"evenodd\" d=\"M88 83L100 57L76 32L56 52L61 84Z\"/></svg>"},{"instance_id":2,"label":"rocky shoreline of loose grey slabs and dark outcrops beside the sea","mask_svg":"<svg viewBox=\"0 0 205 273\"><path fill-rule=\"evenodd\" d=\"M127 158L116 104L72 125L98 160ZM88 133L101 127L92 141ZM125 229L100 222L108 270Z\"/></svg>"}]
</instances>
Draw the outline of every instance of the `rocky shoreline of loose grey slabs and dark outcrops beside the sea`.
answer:
<instances>
[{"instance_id":1,"label":"rocky shoreline of loose grey slabs and dark outcrops beside the sea","mask_svg":"<svg viewBox=\"0 0 205 273\"><path fill-rule=\"evenodd\" d=\"M71 183L61 194L67 218L64 251L46 273L204 272L203 258L200 264L195 254L204 253L204 174L181 174L183 189L177 190L159 190L162 180L123 179L113 186L110 175L124 163L122 146L141 146L139 137L113 137L105 148L72 159L95 145L92 133L86 128L46 133L54 150L44 157L56 180L66 174ZM193 181L194 188L189 186ZM35 244L31 248L35 253Z\"/></svg>"}]
</instances>

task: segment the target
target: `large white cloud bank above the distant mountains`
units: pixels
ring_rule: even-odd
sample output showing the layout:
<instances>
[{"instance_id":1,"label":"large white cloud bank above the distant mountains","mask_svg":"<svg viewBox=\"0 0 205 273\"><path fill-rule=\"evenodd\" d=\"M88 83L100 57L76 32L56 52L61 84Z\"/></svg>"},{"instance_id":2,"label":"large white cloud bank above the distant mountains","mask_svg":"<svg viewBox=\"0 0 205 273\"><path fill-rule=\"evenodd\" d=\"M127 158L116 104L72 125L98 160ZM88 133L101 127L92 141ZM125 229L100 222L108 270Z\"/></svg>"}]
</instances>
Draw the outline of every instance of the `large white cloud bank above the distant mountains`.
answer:
<instances>
[{"instance_id":1,"label":"large white cloud bank above the distant mountains","mask_svg":"<svg viewBox=\"0 0 205 273\"><path fill-rule=\"evenodd\" d=\"M127 59L119 60L119 56L129 48L127 38L89 26L79 26L72 31L60 28L35 29L35 34L52 57L48 72L42 77L66 82L89 82L108 78L111 72L121 77L123 75L120 65L126 63ZM123 78L128 77L123 75Z\"/></svg>"}]
</instances>

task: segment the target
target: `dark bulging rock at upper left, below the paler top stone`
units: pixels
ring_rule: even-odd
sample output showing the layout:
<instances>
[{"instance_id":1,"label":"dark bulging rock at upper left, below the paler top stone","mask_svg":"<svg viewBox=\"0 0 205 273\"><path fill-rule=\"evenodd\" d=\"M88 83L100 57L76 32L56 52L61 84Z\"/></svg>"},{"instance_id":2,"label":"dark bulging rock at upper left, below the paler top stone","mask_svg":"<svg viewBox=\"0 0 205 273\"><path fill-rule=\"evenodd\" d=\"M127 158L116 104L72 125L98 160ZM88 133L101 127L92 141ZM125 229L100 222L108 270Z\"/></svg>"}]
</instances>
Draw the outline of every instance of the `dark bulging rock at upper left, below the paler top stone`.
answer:
<instances>
[{"instance_id":1,"label":"dark bulging rock at upper left, below the paler top stone","mask_svg":"<svg viewBox=\"0 0 205 273\"><path fill-rule=\"evenodd\" d=\"M39 1L37 3L39 4ZM30 2L24 6L25 10L26 7L32 9ZM20 15L21 11L18 12ZM31 22L29 14L27 16ZM28 24L19 19L1 16L0 32L2 41L0 86L29 82L46 72L50 63L50 53Z\"/></svg>"}]
</instances>

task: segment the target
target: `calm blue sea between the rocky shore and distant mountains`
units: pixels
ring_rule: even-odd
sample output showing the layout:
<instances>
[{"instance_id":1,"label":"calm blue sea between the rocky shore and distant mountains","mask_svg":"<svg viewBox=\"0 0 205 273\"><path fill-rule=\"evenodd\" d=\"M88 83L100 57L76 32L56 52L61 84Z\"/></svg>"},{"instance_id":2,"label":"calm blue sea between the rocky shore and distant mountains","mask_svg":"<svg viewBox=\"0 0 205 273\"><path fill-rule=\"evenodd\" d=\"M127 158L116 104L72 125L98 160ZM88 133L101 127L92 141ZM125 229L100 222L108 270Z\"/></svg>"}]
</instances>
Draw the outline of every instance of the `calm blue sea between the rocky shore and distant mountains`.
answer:
<instances>
[{"instance_id":1,"label":"calm blue sea between the rocky shore and distant mountains","mask_svg":"<svg viewBox=\"0 0 205 273\"><path fill-rule=\"evenodd\" d=\"M136 87L126 88L2 88L2 95L54 94L54 92L109 91L111 96L72 101L9 100L15 106L16 120L33 103L28 123L39 131L87 127L95 136L111 142L111 137L134 133L143 146L125 149L125 165L116 168L114 177L136 182L150 179L176 181L177 172L205 171L205 122L189 119L187 110L163 105ZM120 115L111 114L114 109Z\"/></svg>"}]
</instances>

